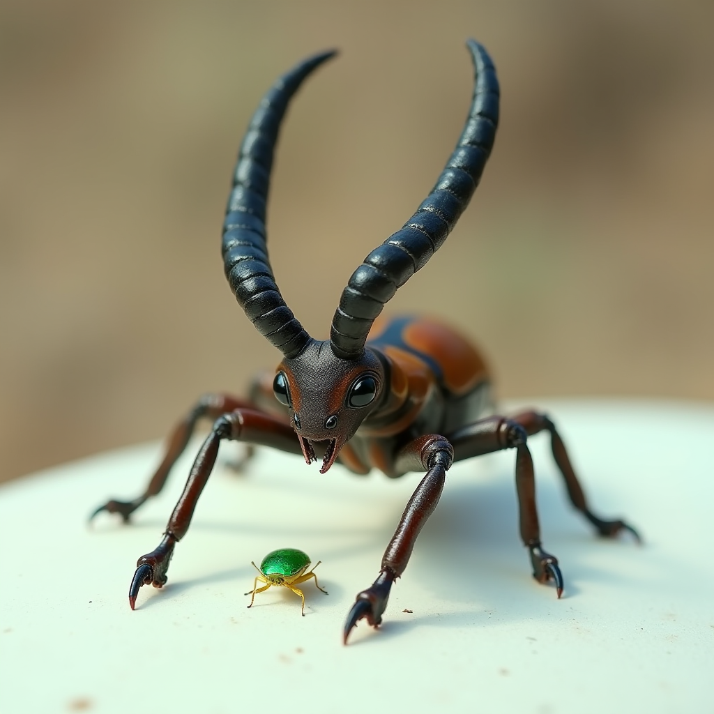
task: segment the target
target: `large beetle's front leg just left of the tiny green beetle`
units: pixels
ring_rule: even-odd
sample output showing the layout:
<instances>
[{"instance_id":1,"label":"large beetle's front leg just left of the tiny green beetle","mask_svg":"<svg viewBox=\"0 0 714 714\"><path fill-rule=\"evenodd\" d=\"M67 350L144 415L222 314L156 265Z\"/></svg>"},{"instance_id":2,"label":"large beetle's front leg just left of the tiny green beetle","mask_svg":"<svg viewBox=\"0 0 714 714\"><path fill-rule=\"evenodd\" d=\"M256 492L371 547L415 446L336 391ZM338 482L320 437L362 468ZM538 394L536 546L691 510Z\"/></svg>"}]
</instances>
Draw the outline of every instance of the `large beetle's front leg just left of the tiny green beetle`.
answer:
<instances>
[{"instance_id":1,"label":"large beetle's front leg just left of the tiny green beetle","mask_svg":"<svg viewBox=\"0 0 714 714\"><path fill-rule=\"evenodd\" d=\"M198 497L206 486L208 476L211 476L218 446L223 439L272 446L294 454L302 453L293 428L278 418L242 408L219 417L198 451L196 461L193 462L183 493L176 503L174 513L171 513L169 523L166 524L164 539L151 553L142 555L136 562L136 573L129 588L129 605L132 610L141 585L151 584L155 588L161 588L161 585L166 583L166 570L169 568L174 546L188 531Z\"/></svg>"}]
</instances>

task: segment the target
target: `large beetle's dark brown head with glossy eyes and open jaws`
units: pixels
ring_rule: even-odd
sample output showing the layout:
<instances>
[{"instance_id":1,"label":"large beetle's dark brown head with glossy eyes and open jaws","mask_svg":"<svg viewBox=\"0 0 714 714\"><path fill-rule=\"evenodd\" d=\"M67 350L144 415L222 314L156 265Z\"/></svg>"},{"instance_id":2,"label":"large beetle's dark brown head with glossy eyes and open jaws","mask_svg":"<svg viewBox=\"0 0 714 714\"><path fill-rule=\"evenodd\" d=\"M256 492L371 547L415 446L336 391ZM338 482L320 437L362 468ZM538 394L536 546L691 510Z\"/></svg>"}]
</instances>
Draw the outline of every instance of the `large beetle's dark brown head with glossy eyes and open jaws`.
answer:
<instances>
[{"instance_id":1,"label":"large beetle's dark brown head with glossy eyes and open jaws","mask_svg":"<svg viewBox=\"0 0 714 714\"><path fill-rule=\"evenodd\" d=\"M295 358L278 365L273 391L290 409L291 423L307 463L324 451L321 473L378 405L384 367L369 349L356 359L341 359L330 341L311 341Z\"/></svg>"}]
</instances>

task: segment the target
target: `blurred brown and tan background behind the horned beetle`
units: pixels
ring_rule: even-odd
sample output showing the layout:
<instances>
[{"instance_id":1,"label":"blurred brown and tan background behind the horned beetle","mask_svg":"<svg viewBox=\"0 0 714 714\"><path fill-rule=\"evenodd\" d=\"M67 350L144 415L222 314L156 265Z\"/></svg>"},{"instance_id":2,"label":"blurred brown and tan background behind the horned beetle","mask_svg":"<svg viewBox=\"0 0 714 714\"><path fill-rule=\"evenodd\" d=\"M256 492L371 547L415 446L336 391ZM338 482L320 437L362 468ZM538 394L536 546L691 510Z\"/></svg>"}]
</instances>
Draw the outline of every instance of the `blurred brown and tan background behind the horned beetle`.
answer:
<instances>
[{"instance_id":1,"label":"blurred brown and tan background behind the horned beetle","mask_svg":"<svg viewBox=\"0 0 714 714\"><path fill-rule=\"evenodd\" d=\"M223 278L223 208L262 92L331 46L268 226L313 336L441 171L474 36L496 149L390 310L478 338L502 396L714 398L713 28L689 2L4 1L0 478L163 436L277 363Z\"/></svg>"}]
</instances>

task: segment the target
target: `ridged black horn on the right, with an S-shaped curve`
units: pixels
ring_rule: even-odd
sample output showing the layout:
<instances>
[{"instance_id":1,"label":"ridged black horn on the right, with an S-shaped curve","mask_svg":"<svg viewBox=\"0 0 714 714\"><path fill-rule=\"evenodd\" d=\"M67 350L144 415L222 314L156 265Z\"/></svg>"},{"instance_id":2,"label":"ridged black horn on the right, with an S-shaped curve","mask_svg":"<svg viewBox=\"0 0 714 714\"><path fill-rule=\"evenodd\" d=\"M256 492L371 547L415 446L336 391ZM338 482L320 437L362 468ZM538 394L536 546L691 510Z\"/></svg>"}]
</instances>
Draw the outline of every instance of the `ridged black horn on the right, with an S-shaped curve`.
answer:
<instances>
[{"instance_id":1,"label":"ridged black horn on the right, with an S-shaped curve","mask_svg":"<svg viewBox=\"0 0 714 714\"><path fill-rule=\"evenodd\" d=\"M466 44L476 71L466 126L426 200L401 231L373 250L349 279L330 333L338 357L351 359L362 353L384 304L446 241L481 180L498 125L498 79L486 50L473 40Z\"/></svg>"}]
</instances>

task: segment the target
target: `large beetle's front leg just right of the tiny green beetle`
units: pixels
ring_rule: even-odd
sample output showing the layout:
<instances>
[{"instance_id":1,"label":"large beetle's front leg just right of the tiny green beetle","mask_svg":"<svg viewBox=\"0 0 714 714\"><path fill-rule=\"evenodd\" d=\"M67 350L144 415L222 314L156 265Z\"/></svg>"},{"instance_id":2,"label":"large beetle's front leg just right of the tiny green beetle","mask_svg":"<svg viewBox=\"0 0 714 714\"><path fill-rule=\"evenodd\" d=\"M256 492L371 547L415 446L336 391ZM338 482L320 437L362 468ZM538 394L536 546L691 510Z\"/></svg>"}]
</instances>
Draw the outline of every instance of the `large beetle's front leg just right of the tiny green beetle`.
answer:
<instances>
[{"instance_id":1,"label":"large beetle's front leg just right of the tiny green beetle","mask_svg":"<svg viewBox=\"0 0 714 714\"><path fill-rule=\"evenodd\" d=\"M401 521L382 558L377 579L366 590L358 593L343 630L343 642L358 620L366 618L373 627L382 621L389 591L396 578L401 577L409 562L416 538L426 519L431 516L441 496L446 470L453 462L453 448L443 436L422 436L405 446L396 458L398 471L426 470L426 476L409 499Z\"/></svg>"}]
</instances>

